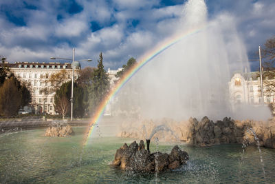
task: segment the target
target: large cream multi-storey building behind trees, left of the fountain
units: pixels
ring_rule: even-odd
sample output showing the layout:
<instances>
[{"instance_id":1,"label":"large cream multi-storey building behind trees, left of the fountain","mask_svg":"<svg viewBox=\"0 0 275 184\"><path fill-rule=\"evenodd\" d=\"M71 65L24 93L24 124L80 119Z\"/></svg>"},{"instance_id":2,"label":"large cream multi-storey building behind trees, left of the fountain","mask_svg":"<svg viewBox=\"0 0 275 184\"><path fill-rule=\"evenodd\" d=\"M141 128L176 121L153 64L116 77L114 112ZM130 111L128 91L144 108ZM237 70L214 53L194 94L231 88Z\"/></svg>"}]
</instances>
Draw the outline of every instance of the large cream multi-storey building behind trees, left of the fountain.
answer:
<instances>
[{"instance_id":1,"label":"large cream multi-storey building behind trees, left of the fountain","mask_svg":"<svg viewBox=\"0 0 275 184\"><path fill-rule=\"evenodd\" d=\"M30 106L19 110L19 113L35 112L36 114L48 113L56 114L54 111L54 94L43 93L43 89L50 87L50 82L47 82L52 74L66 70L68 81L72 79L72 64L71 63L28 63L16 62L0 63L0 67L8 67L10 72L28 86L32 94L32 102ZM78 79L79 71L81 70L80 63L75 62L75 79Z\"/></svg>"}]
</instances>

